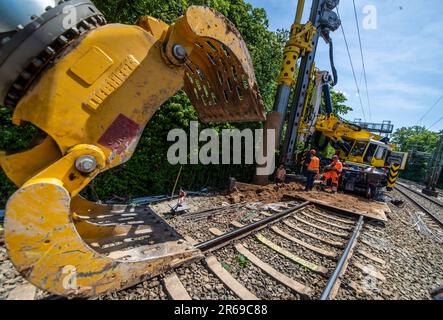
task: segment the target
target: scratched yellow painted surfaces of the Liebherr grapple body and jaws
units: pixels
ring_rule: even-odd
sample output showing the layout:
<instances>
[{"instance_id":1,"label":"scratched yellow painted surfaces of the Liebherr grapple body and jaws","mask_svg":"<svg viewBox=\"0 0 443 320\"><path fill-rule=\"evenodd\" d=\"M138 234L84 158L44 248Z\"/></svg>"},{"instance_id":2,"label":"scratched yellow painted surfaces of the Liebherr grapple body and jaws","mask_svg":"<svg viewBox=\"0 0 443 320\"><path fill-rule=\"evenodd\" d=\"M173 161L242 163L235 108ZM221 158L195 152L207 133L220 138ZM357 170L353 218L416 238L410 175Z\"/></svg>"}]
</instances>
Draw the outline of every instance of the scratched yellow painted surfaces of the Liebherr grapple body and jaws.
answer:
<instances>
[{"instance_id":1,"label":"scratched yellow painted surfaces of the Liebherr grapple body and jaws","mask_svg":"<svg viewBox=\"0 0 443 320\"><path fill-rule=\"evenodd\" d=\"M112 209L78 194L98 174L128 161L153 114L184 89L186 68L172 55L172 46L182 44L191 59L196 57L192 54L196 44L209 40L234 55L233 61L254 89L247 101L253 109L245 112L248 120L263 120L264 107L245 42L222 15L204 7L189 8L171 26L143 17L139 26L110 24L88 32L20 100L13 122L30 122L48 135L23 153L0 152L0 164L20 187L6 207L5 243L12 263L32 284L59 295L89 297L126 288L171 264L200 257L198 250L176 241L171 245L175 251L166 247L163 255L149 256L143 255L149 251L145 248L138 256L142 258L129 262L99 254L94 241L124 236L128 226L89 223L88 217ZM207 56L191 62L216 72ZM210 86L216 87L217 81ZM248 108L248 103L242 107ZM231 102L228 107L241 106ZM120 137L126 129L132 130L131 135ZM84 155L97 162L92 173L81 173L75 166Z\"/></svg>"}]
</instances>

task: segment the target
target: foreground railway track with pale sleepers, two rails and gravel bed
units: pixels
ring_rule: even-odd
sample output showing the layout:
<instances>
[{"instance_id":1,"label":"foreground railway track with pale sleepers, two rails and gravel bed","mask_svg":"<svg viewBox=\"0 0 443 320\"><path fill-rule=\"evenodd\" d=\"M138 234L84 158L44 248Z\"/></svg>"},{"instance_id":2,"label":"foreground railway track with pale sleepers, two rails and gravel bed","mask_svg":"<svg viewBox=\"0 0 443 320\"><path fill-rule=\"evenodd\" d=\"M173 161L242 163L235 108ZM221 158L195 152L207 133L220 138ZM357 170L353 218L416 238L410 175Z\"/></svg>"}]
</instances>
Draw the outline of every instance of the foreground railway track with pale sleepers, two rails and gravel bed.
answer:
<instances>
[{"instance_id":1,"label":"foreground railway track with pale sleepers, two rails and gravel bed","mask_svg":"<svg viewBox=\"0 0 443 320\"><path fill-rule=\"evenodd\" d=\"M223 221L220 228L208 221L226 213L204 211L206 220L197 213L198 223L211 226L197 239L187 237L203 252L201 261L99 299L147 299L155 291L156 298L173 300L327 300L365 298L379 290L377 284L386 281L386 262L377 256L383 229L310 202L286 207L257 210L250 223L241 219L250 210L226 207L238 219L230 216L229 227Z\"/></svg>"}]
</instances>

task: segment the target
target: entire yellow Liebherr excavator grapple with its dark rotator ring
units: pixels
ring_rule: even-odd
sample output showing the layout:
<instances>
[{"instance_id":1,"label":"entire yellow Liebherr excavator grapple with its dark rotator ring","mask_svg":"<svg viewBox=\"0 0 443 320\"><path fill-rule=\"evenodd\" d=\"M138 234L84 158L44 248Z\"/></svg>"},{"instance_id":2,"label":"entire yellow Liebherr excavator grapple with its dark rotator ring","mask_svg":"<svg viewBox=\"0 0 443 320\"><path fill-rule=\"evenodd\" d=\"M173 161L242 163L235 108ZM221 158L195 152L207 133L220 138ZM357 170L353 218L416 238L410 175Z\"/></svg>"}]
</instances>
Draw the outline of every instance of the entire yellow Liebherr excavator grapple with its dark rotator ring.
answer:
<instances>
[{"instance_id":1,"label":"entire yellow Liebherr excavator grapple with its dark rotator ring","mask_svg":"<svg viewBox=\"0 0 443 320\"><path fill-rule=\"evenodd\" d=\"M142 17L129 26L106 24L89 0L30 2L30 21L17 8L0 10L15 23L0 30L0 104L14 108L15 124L46 133L29 150L0 154L19 188L4 224L12 263L41 289L91 297L200 258L149 208L79 193L131 158L149 119L179 90L203 122L265 119L239 32L206 7L172 25ZM76 14L67 19L69 10Z\"/></svg>"}]
</instances>

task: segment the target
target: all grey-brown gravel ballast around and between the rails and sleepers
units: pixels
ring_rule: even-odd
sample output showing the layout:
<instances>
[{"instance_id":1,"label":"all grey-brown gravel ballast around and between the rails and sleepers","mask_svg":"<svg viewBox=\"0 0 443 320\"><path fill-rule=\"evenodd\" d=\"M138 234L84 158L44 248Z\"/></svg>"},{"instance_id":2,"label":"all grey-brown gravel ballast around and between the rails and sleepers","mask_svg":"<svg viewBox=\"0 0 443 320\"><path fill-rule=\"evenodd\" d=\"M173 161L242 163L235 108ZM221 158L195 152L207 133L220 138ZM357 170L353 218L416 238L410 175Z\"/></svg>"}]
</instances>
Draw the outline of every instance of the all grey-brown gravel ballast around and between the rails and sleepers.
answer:
<instances>
[{"instance_id":1,"label":"all grey-brown gravel ballast around and between the rails and sleepers","mask_svg":"<svg viewBox=\"0 0 443 320\"><path fill-rule=\"evenodd\" d=\"M392 196L401 198L396 192L393 192ZM274 198L271 200L273 202L275 201ZM191 207L191 212L229 204L227 198L224 196L195 197L189 198L187 202ZM169 202L169 204L175 203L175 201ZM351 260L349 273L347 273L343 279L344 285L339 292L338 299L430 299L430 292L437 287L443 286L443 245L417 231L413 225L414 221L410 216L410 212L415 210L415 208L412 208L408 204L403 208L396 207L392 204L389 204L389 206L392 210L392 214L388 217L388 222L385 226L365 227L356 247L356 251L364 250L383 259L386 261L386 266L383 267L377 265L356 252ZM170 210L167 202L157 204L153 206L153 209L165 216L167 216L167 212ZM201 241L213 237L208 232L208 229L211 226L219 228L222 231L228 231L232 228L229 226L229 223L232 222L232 220L245 222L244 218L246 217L249 221L253 221L253 219L257 217L263 218L263 216L260 215L260 210L243 208L232 210L232 212L227 211L224 214L198 222L189 222L189 220L184 221L184 219L181 219L180 217L168 219L168 222L184 235L191 236L197 241ZM311 221L312 223L321 224L318 221L310 220L309 217L303 215L300 215L300 217L307 221ZM327 220L324 217L319 218ZM312 233L322 235L327 239L346 243L345 239L319 231L303 223L299 223L295 219L290 218L289 221L294 225ZM334 224L340 224L337 221L328 221ZM325 250L338 253L341 252L341 249L331 247L318 240L299 234L282 222L277 223L276 226L284 232L307 243ZM324 226L334 230L334 227L330 225ZM306 260L315 262L329 269L333 269L334 267L334 261L331 259L319 257L317 254L310 252L309 250L296 247L291 242L281 238L272 231L262 231L262 233L269 240L274 241L288 251L297 254ZM272 265L278 271L314 289L316 297L319 296L319 293L323 290L327 281L325 277L301 268L299 265L292 263L288 259L260 244L253 237L244 239L242 243L245 243L250 251L263 261ZM215 255L218 257L219 261L223 262L225 268L227 268L239 282L243 283L245 287L259 298L268 300L300 299L296 293L291 292L285 286L270 279L269 276L264 274L251 263L248 263L247 261L246 263L243 263L233 247L219 250ZM371 277L363 275L359 269L352 266L353 262L359 262L363 265L372 265L375 268L374 270L382 272L386 276L386 282L373 281ZM190 268L179 268L176 272L194 299L236 299L234 294L223 286L223 284L212 275L211 272L207 271L202 263L194 264ZM357 289L360 290L347 287L350 280L357 283ZM12 289L23 283L25 283L25 280L15 271L12 264L7 259L5 247L3 245L0 246L0 299L6 299ZM198 285L195 285L196 283L198 283ZM46 293L40 290L37 291L37 298L42 298L46 295ZM145 281L134 288L122 292L100 297L100 299L120 300L162 300L168 298L169 297L163 288L160 278Z\"/></svg>"}]
</instances>

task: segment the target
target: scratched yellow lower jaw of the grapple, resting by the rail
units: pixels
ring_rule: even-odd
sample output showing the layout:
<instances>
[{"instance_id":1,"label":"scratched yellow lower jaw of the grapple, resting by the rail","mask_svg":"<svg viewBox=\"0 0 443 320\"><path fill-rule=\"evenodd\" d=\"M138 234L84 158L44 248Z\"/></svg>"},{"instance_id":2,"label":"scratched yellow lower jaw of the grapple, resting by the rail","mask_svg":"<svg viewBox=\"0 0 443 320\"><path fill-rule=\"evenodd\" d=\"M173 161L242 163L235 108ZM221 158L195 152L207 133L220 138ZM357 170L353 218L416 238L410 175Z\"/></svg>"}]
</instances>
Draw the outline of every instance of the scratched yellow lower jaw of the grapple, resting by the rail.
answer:
<instances>
[{"instance_id":1,"label":"scratched yellow lower jaw of the grapple, resting by the rail","mask_svg":"<svg viewBox=\"0 0 443 320\"><path fill-rule=\"evenodd\" d=\"M87 212L93 207L100 215ZM77 197L71 202L54 182L33 183L13 195L5 227L18 271L34 285L71 298L121 290L200 256L149 209Z\"/></svg>"}]
</instances>

